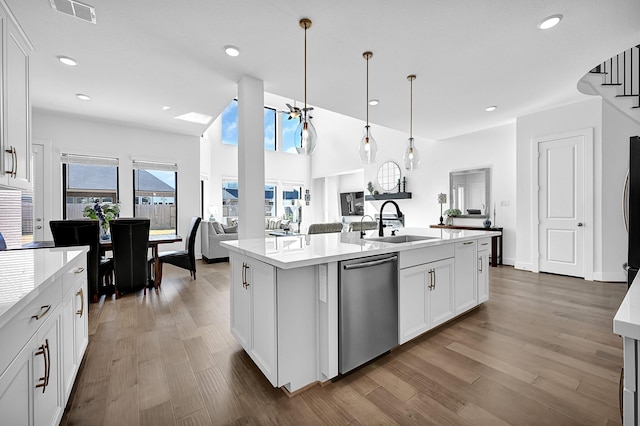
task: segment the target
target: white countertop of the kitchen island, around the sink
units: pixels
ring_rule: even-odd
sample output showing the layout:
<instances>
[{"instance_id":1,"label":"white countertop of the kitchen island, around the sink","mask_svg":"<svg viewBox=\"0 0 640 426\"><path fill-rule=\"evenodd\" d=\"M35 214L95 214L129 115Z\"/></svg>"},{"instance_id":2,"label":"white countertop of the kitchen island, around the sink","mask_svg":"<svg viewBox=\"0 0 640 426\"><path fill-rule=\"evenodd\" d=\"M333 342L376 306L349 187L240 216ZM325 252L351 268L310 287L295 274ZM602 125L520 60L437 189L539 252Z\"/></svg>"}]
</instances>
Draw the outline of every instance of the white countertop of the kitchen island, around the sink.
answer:
<instances>
[{"instance_id":1,"label":"white countertop of the kitchen island, around the sink","mask_svg":"<svg viewBox=\"0 0 640 426\"><path fill-rule=\"evenodd\" d=\"M385 232L390 235L390 232ZM221 241L229 250L253 257L277 268L291 269L327 262L354 259L376 254L394 253L420 247L448 244L500 235L497 231L470 231L460 229L401 228L397 235L421 235L434 239L408 243L383 243L368 240L378 231L368 231L364 239L359 232L265 237L247 240Z\"/></svg>"}]
</instances>

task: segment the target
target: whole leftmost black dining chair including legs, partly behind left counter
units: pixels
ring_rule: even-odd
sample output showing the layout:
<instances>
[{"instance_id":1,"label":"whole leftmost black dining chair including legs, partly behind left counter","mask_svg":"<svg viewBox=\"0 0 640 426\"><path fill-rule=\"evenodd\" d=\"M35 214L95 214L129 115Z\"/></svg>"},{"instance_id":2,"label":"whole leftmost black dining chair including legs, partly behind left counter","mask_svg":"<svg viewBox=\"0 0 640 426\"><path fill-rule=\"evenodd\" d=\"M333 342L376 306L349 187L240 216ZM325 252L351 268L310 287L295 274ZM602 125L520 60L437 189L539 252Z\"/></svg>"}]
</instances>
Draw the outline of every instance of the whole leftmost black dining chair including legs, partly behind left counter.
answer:
<instances>
[{"instance_id":1,"label":"whole leftmost black dining chair including legs, partly behind left counter","mask_svg":"<svg viewBox=\"0 0 640 426\"><path fill-rule=\"evenodd\" d=\"M100 253L100 222L92 219L52 220L49 222L56 247L89 246L87 281L89 300L97 302L112 283L113 263Z\"/></svg>"}]
</instances>

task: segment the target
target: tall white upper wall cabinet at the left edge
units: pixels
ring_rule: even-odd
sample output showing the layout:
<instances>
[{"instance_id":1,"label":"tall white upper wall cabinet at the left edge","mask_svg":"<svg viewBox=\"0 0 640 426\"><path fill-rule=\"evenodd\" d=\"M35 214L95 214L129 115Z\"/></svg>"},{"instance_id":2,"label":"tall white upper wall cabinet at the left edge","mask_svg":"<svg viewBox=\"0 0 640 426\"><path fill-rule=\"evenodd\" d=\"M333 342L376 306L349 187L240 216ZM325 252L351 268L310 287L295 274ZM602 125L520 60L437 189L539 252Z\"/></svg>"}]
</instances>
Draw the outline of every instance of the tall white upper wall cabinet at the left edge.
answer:
<instances>
[{"instance_id":1,"label":"tall white upper wall cabinet at the left edge","mask_svg":"<svg viewBox=\"0 0 640 426\"><path fill-rule=\"evenodd\" d=\"M30 47L17 22L0 3L0 185L31 189Z\"/></svg>"}]
</instances>

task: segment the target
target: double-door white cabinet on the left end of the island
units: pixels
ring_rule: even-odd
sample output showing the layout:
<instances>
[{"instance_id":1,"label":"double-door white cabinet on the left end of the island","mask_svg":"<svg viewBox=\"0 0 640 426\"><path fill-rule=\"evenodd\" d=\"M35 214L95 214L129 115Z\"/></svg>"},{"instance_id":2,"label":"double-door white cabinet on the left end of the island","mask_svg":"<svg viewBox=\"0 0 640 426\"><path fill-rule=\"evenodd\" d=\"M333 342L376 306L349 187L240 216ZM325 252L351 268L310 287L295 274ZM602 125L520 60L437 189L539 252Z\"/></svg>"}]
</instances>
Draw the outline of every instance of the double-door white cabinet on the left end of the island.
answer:
<instances>
[{"instance_id":1,"label":"double-door white cabinet on the left end of the island","mask_svg":"<svg viewBox=\"0 0 640 426\"><path fill-rule=\"evenodd\" d=\"M231 333L277 386L275 268L236 253L230 257Z\"/></svg>"}]
</instances>

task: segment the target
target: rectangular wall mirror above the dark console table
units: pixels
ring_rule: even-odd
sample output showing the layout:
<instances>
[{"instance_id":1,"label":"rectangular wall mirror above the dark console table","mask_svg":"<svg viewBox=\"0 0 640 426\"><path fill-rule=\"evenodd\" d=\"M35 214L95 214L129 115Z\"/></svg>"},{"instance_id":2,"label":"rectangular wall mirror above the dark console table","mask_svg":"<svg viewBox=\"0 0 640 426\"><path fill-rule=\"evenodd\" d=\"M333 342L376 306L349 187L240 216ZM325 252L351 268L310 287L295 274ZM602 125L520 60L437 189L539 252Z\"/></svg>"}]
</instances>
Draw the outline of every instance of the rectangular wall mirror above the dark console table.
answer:
<instances>
[{"instance_id":1,"label":"rectangular wall mirror above the dark console table","mask_svg":"<svg viewBox=\"0 0 640 426\"><path fill-rule=\"evenodd\" d=\"M491 191L491 169L460 170L449 173L450 208L459 209L459 217L487 218Z\"/></svg>"}]
</instances>

